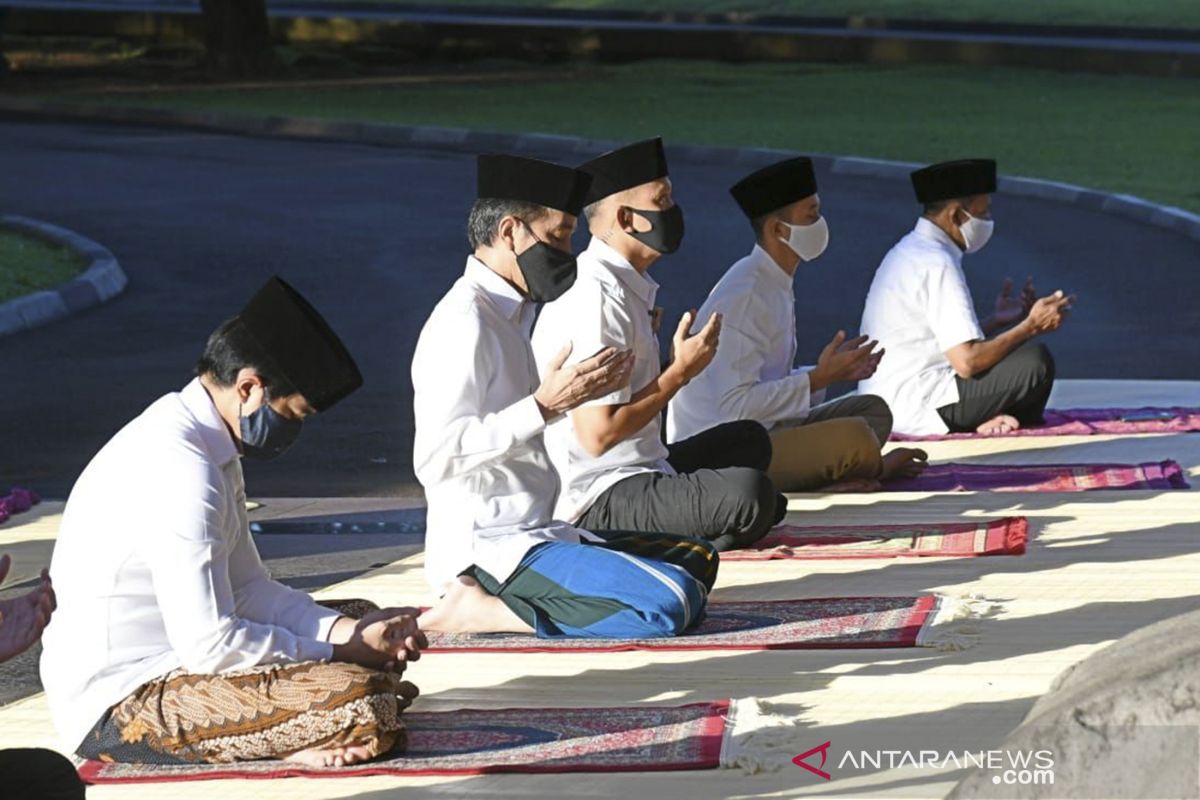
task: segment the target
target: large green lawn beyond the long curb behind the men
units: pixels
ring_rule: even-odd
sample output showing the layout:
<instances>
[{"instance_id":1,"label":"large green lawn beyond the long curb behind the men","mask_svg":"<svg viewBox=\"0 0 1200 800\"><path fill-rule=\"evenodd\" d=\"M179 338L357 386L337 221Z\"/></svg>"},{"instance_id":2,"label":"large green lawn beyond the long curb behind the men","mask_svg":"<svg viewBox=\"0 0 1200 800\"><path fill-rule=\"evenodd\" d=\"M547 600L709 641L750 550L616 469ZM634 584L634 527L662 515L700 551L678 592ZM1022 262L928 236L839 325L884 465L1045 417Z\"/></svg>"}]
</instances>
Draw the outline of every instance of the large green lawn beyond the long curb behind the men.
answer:
<instances>
[{"instance_id":1,"label":"large green lawn beyond the long curb behind the men","mask_svg":"<svg viewBox=\"0 0 1200 800\"><path fill-rule=\"evenodd\" d=\"M916 162L983 155L1003 174L1200 210L1198 89L1189 79L1007 67L652 61L570 79L547 67L535 80L84 97Z\"/></svg>"}]
</instances>

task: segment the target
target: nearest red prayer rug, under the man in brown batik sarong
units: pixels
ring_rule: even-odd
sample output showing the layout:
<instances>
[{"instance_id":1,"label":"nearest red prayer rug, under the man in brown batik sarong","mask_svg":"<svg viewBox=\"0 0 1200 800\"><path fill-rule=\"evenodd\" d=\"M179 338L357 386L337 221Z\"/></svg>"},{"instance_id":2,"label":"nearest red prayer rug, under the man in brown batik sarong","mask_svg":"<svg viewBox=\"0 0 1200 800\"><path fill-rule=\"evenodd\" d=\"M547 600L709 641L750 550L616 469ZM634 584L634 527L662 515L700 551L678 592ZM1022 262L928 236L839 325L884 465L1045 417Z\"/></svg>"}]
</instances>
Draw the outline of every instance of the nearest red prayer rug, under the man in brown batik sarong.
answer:
<instances>
[{"instance_id":1,"label":"nearest red prayer rug, under the man in brown batik sarong","mask_svg":"<svg viewBox=\"0 0 1200 800\"><path fill-rule=\"evenodd\" d=\"M212 778L641 772L731 763L731 700L602 709L461 709L404 712L408 747L366 764L310 768L278 760L236 764L84 762L88 783ZM752 709L751 709L752 710Z\"/></svg>"}]
</instances>

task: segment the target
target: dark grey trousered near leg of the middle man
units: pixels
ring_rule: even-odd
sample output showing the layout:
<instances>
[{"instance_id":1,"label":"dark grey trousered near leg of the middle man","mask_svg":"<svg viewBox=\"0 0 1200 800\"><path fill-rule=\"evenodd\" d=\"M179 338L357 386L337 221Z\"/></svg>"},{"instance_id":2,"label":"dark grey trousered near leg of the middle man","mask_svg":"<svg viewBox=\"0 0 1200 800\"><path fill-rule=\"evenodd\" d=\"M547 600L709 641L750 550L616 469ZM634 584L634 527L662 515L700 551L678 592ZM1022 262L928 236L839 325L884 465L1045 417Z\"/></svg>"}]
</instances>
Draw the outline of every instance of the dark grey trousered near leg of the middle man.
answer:
<instances>
[{"instance_id":1,"label":"dark grey trousered near leg of the middle man","mask_svg":"<svg viewBox=\"0 0 1200 800\"><path fill-rule=\"evenodd\" d=\"M758 541L786 509L786 498L757 469L644 473L611 486L576 524L598 533L692 536L726 551Z\"/></svg>"}]
</instances>

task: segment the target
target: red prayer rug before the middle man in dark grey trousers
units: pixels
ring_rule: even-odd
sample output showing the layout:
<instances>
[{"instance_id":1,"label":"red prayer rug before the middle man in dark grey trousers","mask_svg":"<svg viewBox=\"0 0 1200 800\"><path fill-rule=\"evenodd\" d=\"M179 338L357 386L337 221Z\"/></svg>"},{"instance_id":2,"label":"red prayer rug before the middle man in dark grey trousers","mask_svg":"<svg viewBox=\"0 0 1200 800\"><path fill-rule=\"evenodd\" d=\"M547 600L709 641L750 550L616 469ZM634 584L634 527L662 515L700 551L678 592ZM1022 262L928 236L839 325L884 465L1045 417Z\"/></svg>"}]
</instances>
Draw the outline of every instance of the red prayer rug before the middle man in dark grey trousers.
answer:
<instances>
[{"instance_id":1,"label":"red prayer rug before the middle man in dark grey trousers","mask_svg":"<svg viewBox=\"0 0 1200 800\"><path fill-rule=\"evenodd\" d=\"M779 525L755 542L752 548L721 553L721 561L1020 555L1027 541L1028 522L1025 517L846 528Z\"/></svg>"}]
</instances>

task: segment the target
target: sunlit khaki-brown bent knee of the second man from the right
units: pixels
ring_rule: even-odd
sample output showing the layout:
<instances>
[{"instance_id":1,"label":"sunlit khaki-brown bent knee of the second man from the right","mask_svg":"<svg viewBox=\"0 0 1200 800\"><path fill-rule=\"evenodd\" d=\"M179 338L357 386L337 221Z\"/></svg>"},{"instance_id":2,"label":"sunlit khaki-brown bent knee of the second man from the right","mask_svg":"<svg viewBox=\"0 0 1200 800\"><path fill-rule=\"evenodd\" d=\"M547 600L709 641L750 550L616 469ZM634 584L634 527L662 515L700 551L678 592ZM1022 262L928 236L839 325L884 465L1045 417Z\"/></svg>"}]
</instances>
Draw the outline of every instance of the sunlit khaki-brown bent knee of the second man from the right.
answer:
<instances>
[{"instance_id":1,"label":"sunlit khaki-brown bent knee of the second man from the right","mask_svg":"<svg viewBox=\"0 0 1200 800\"><path fill-rule=\"evenodd\" d=\"M859 416L776 428L767 475L780 492L812 492L851 480L876 480L883 471L880 441Z\"/></svg>"}]
</instances>

